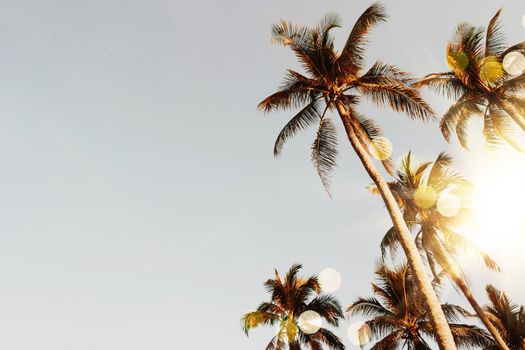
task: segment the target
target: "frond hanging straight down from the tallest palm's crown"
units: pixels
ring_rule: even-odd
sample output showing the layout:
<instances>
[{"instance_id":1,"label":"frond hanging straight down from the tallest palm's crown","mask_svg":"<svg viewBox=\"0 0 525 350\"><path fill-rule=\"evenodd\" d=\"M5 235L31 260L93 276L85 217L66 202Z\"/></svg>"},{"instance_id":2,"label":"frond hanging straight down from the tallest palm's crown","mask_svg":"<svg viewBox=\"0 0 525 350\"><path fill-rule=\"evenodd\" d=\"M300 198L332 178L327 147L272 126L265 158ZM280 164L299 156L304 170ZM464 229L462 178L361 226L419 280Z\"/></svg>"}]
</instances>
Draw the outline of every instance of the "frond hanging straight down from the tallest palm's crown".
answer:
<instances>
[{"instance_id":1,"label":"frond hanging straight down from the tallest palm's crown","mask_svg":"<svg viewBox=\"0 0 525 350\"><path fill-rule=\"evenodd\" d=\"M328 118L321 119L317 137L312 144L312 163L321 182L330 195L330 175L337 160L337 132Z\"/></svg>"}]
</instances>

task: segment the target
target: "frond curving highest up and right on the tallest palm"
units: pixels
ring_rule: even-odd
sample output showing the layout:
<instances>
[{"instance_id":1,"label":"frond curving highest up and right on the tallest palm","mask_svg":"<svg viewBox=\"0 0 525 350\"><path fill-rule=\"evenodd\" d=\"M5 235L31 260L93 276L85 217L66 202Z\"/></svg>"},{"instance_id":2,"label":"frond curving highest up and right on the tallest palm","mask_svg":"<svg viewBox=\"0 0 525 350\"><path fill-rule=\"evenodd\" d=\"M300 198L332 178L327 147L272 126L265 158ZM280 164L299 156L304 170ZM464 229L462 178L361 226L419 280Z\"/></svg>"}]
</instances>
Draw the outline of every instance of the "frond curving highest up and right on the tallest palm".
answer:
<instances>
[{"instance_id":1,"label":"frond curving highest up and right on the tallest palm","mask_svg":"<svg viewBox=\"0 0 525 350\"><path fill-rule=\"evenodd\" d=\"M363 69L367 34L374 25L385 22L386 18L384 7L374 3L357 19L337 60L338 69L343 75L356 76Z\"/></svg>"}]
</instances>

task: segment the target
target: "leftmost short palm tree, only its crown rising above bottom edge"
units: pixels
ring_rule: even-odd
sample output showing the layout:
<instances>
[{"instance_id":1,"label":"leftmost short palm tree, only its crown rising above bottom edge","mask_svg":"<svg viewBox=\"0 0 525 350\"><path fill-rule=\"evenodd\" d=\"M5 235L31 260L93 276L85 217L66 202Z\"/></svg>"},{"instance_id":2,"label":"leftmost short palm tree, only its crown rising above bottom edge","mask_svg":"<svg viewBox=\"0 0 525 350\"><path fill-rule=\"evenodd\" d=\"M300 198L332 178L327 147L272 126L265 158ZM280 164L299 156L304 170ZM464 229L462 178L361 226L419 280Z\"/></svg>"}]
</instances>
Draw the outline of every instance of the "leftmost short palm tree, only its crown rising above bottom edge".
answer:
<instances>
[{"instance_id":1,"label":"leftmost short palm tree, only its crown rising above bottom edge","mask_svg":"<svg viewBox=\"0 0 525 350\"><path fill-rule=\"evenodd\" d=\"M345 350L345 346L336 335L320 325L315 327L321 320L338 326L343 317L341 305L330 295L319 295L321 288L317 276L299 277L298 272L301 268L301 265L293 265L284 279L281 279L276 270L275 278L266 281L264 285L271 294L271 300L261 303L256 311L248 312L242 317L244 332L248 335L252 328L278 325L277 334L266 350L284 350L286 345L290 350L300 350L306 345L312 350L322 350L323 345L328 349ZM312 298L313 295L316 296ZM314 318L318 320L310 319L311 324L303 326L301 315L305 312L313 312Z\"/></svg>"}]
</instances>

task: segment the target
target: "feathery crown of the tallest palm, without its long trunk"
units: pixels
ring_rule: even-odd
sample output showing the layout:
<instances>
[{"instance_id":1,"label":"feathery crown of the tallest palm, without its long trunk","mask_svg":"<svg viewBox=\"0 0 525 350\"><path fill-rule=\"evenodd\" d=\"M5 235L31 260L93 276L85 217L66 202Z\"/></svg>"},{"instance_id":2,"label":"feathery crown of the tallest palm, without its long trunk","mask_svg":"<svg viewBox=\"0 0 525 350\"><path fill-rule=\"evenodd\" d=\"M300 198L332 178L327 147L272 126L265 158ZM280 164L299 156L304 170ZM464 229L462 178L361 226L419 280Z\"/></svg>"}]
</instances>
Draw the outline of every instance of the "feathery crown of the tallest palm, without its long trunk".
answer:
<instances>
[{"instance_id":1,"label":"feathery crown of the tallest palm, without its long trunk","mask_svg":"<svg viewBox=\"0 0 525 350\"><path fill-rule=\"evenodd\" d=\"M284 21L273 26L273 40L290 47L306 72L303 75L289 69L280 89L259 104L265 112L300 109L279 133L274 155L278 156L284 143L298 131L317 124L312 162L327 191L337 157L336 127L326 115L328 110L342 105L353 111L352 132L367 150L381 135L381 130L371 119L355 112L359 96L369 97L379 105L388 105L413 118L427 119L432 115L418 91L408 85L411 79L407 73L381 61L363 73L367 34L372 26L385 20L381 5L370 6L356 21L340 53L335 50L330 35L330 30L340 27L336 15L325 16L319 25L311 28ZM388 159L383 163L389 168Z\"/></svg>"}]
</instances>

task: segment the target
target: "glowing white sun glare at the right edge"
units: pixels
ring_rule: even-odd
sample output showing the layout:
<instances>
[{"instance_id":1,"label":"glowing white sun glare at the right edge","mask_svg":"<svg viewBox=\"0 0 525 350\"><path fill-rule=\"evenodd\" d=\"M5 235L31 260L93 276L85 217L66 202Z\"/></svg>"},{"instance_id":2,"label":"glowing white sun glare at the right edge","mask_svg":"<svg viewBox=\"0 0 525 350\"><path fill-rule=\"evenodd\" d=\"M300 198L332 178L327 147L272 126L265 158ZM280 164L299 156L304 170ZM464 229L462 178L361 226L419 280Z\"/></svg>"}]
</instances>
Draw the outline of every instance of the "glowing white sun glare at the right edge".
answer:
<instances>
[{"instance_id":1,"label":"glowing white sun glare at the right edge","mask_svg":"<svg viewBox=\"0 0 525 350\"><path fill-rule=\"evenodd\" d=\"M511 149L479 153L471 174L472 216L464 232L498 254L525 243L525 155Z\"/></svg>"}]
</instances>

